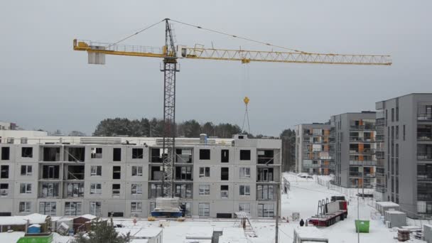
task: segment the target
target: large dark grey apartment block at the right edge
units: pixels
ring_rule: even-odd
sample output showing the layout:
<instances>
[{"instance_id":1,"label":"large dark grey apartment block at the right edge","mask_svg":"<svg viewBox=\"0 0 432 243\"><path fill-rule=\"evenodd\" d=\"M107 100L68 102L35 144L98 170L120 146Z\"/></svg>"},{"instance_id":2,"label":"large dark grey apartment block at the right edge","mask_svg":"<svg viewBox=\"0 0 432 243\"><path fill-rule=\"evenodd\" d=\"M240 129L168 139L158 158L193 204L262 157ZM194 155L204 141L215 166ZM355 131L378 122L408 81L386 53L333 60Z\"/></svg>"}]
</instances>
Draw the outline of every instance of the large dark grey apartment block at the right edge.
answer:
<instances>
[{"instance_id":1,"label":"large dark grey apartment block at the right edge","mask_svg":"<svg viewBox=\"0 0 432 243\"><path fill-rule=\"evenodd\" d=\"M384 200L409 217L432 217L432 94L376 103L384 116Z\"/></svg>"}]
</instances>

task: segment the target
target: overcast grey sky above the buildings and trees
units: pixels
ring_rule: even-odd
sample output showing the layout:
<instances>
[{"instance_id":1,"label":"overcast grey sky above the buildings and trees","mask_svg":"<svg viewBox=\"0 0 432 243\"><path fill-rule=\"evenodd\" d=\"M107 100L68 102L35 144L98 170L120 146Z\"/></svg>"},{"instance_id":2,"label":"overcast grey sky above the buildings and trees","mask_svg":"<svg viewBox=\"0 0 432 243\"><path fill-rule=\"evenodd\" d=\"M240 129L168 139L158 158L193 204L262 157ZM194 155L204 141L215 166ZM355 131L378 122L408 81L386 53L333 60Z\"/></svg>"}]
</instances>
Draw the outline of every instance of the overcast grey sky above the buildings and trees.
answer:
<instances>
[{"instance_id":1,"label":"overcast grey sky above the buildings and trees","mask_svg":"<svg viewBox=\"0 0 432 243\"><path fill-rule=\"evenodd\" d=\"M114 42L163 18L310 52L392 55L392 66L180 60L177 121L242 124L277 135L330 115L432 92L432 1L1 1L0 120L91 134L108 117L163 116L158 58L88 65L72 39ZM269 50L175 24L177 44ZM163 25L126 44L162 46ZM249 78L245 73L249 73Z\"/></svg>"}]
</instances>

